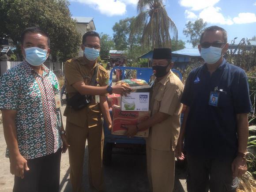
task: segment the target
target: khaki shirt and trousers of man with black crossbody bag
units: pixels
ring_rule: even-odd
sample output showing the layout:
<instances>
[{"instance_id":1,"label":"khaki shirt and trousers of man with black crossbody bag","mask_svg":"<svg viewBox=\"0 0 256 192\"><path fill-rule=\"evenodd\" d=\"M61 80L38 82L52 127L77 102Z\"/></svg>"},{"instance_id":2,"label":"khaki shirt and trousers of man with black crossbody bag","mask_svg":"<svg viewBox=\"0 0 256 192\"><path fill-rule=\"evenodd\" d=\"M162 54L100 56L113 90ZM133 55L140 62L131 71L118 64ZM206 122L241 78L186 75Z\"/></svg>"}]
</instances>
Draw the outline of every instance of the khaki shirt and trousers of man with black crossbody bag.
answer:
<instances>
[{"instance_id":1,"label":"khaki shirt and trousers of man with black crossbody bag","mask_svg":"<svg viewBox=\"0 0 256 192\"><path fill-rule=\"evenodd\" d=\"M73 58L68 60L64 66L66 89L68 97L71 98L78 91L72 84L83 81L90 85L90 79L94 74L96 63L92 69L88 68L85 58ZM89 78L88 78L89 77ZM107 86L109 75L105 68L98 64L98 83L101 87ZM67 117L66 132L68 138L70 180L73 192L84 192L82 188L83 157L86 140L89 151L89 181L95 191L103 189L102 175L102 151L104 144L104 133L102 132L102 113L99 104L92 102L81 110L74 110L67 105L64 116Z\"/></svg>"}]
</instances>

